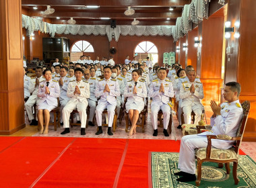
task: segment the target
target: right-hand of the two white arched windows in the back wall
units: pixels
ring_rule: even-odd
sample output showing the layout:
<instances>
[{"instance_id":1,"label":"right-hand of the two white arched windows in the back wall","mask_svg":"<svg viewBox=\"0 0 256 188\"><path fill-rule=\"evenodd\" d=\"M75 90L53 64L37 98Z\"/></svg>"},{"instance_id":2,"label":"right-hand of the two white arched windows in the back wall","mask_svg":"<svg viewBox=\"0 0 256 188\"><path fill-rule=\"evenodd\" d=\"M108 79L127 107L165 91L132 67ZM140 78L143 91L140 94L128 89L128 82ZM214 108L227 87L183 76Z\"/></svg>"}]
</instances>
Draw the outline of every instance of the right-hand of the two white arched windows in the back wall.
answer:
<instances>
[{"instance_id":1,"label":"right-hand of the two white arched windows in the back wall","mask_svg":"<svg viewBox=\"0 0 256 188\"><path fill-rule=\"evenodd\" d=\"M158 48L150 41L140 42L134 50L135 60L146 61L149 56L153 63L158 62Z\"/></svg>"}]
</instances>

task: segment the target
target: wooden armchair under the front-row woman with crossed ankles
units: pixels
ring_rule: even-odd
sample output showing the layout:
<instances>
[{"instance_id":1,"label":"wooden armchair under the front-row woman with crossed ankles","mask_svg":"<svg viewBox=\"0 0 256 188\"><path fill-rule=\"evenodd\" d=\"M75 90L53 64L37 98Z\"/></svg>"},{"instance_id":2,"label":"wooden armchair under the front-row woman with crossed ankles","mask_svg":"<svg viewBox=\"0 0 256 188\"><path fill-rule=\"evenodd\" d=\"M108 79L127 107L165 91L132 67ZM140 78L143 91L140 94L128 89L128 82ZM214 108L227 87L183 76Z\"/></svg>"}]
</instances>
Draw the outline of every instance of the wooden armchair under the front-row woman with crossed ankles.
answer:
<instances>
[{"instance_id":1,"label":"wooden armchair under the front-row woman with crossed ankles","mask_svg":"<svg viewBox=\"0 0 256 188\"><path fill-rule=\"evenodd\" d=\"M127 102L127 97L125 97L125 104L123 105L123 111L125 111L125 132L128 132L128 128L131 127L131 121L129 120L129 113L125 109ZM146 105L144 109L139 113L139 118L141 117L141 124L137 124L138 127L142 128L142 132L145 132L144 126L146 124L146 114L148 113L148 97L146 97Z\"/></svg>"}]
</instances>

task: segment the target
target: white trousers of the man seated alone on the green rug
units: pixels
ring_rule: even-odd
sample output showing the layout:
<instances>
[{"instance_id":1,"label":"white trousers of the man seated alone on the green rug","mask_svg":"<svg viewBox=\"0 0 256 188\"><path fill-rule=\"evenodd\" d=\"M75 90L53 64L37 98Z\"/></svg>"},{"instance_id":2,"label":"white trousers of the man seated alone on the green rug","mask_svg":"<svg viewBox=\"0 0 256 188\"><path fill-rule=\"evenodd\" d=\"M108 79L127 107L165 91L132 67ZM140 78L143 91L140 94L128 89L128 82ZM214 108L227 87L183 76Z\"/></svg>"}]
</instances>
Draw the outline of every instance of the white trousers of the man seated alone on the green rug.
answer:
<instances>
[{"instance_id":1,"label":"white trousers of the man seated alone on the green rug","mask_svg":"<svg viewBox=\"0 0 256 188\"><path fill-rule=\"evenodd\" d=\"M195 149L206 148L206 136L197 134L183 136L179 154L178 168L185 173L195 174Z\"/></svg>"}]
</instances>

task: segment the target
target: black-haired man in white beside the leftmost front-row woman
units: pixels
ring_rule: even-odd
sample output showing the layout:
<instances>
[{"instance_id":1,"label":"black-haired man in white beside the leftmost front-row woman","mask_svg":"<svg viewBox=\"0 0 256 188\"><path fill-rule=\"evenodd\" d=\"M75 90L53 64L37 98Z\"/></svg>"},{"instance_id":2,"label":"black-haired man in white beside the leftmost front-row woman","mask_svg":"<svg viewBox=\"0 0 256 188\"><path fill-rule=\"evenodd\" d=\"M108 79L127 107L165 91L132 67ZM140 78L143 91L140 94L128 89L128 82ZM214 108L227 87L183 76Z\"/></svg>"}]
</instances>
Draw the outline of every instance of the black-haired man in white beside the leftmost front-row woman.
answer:
<instances>
[{"instance_id":1,"label":"black-haired man in white beside the leftmost front-row woman","mask_svg":"<svg viewBox=\"0 0 256 188\"><path fill-rule=\"evenodd\" d=\"M82 68L75 68L75 81L69 81L67 87L67 97L70 97L67 105L63 108L63 128L65 130L61 134L67 134L69 130L69 117L73 109L77 109L81 120L81 135L86 134L86 108L88 106L87 99L90 97L90 86L86 81L82 81Z\"/></svg>"}]
</instances>

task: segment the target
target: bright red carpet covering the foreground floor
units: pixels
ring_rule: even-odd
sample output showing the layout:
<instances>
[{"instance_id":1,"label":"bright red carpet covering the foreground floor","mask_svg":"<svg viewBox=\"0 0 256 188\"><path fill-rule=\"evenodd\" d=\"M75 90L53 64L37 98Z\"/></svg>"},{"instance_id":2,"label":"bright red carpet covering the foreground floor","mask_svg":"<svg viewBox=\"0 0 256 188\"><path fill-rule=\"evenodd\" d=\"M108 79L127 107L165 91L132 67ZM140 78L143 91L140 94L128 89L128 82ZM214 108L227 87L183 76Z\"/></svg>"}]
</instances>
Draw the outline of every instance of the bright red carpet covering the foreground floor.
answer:
<instances>
[{"instance_id":1,"label":"bright red carpet covering the foreground floor","mask_svg":"<svg viewBox=\"0 0 256 188\"><path fill-rule=\"evenodd\" d=\"M148 187L150 152L179 147L180 140L0 137L1 187Z\"/></svg>"}]
</instances>

